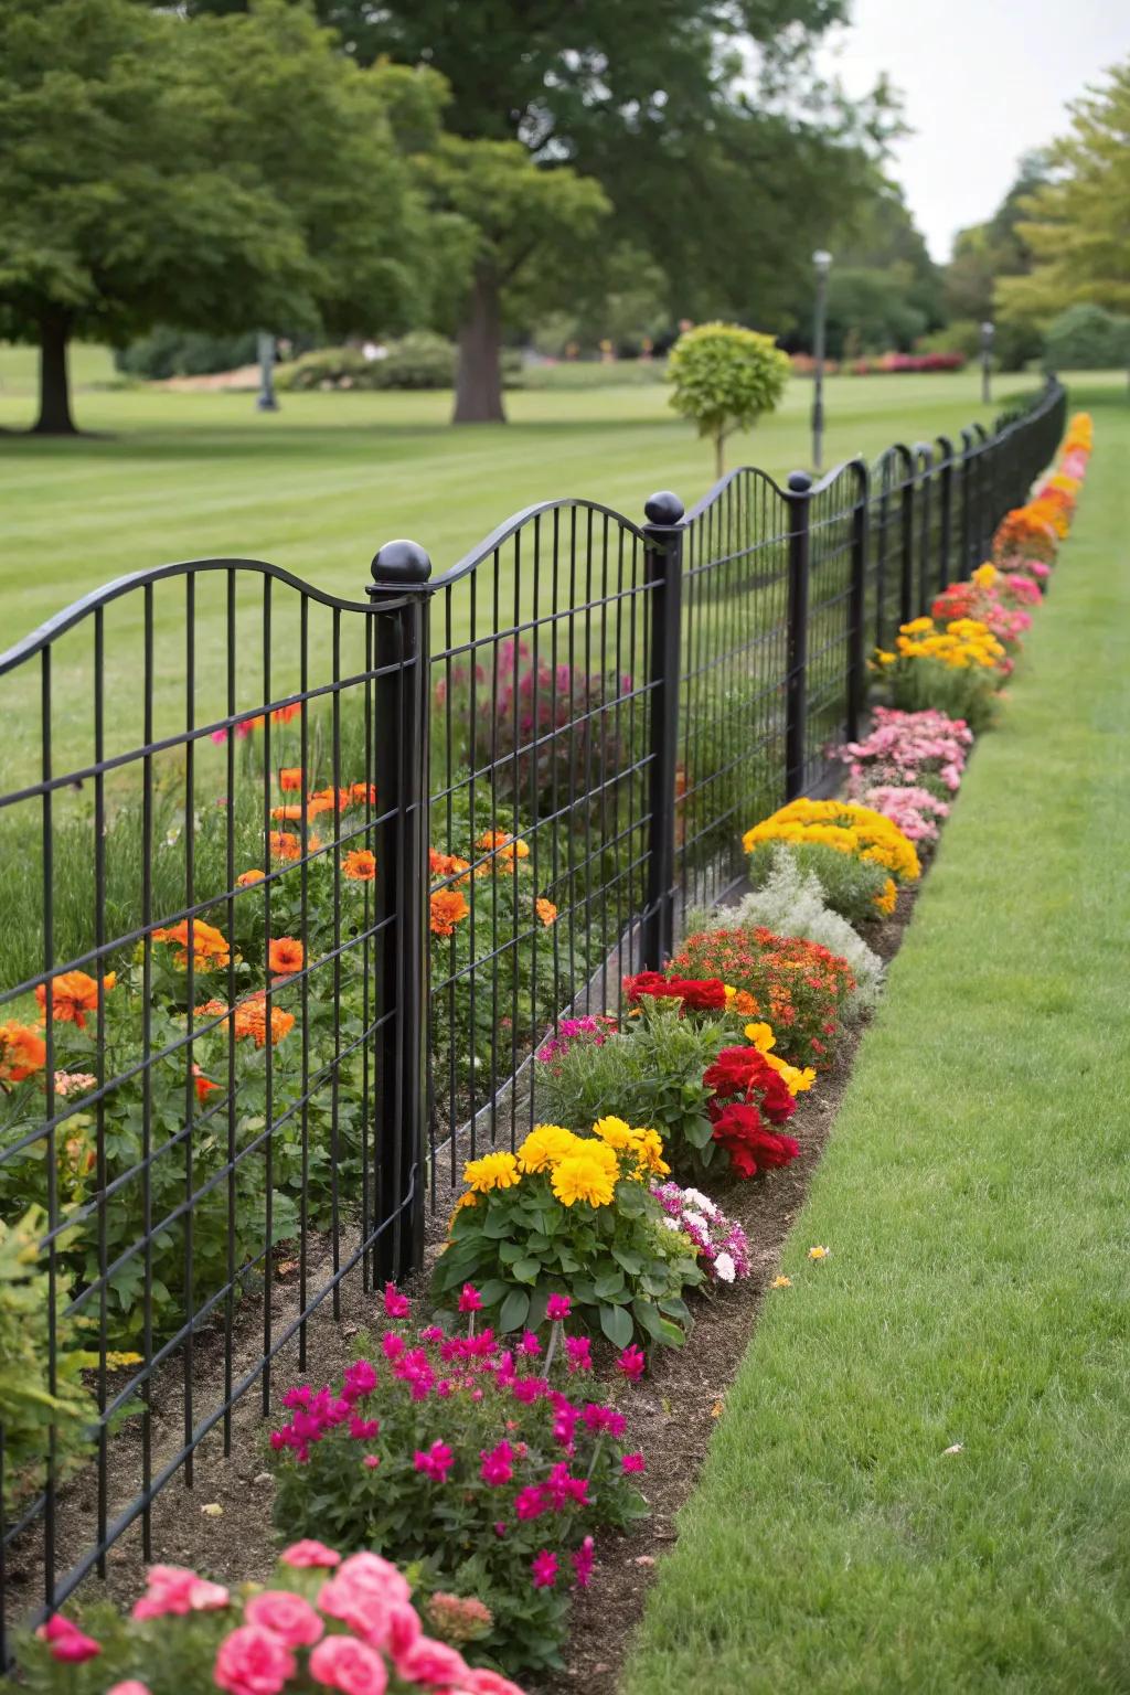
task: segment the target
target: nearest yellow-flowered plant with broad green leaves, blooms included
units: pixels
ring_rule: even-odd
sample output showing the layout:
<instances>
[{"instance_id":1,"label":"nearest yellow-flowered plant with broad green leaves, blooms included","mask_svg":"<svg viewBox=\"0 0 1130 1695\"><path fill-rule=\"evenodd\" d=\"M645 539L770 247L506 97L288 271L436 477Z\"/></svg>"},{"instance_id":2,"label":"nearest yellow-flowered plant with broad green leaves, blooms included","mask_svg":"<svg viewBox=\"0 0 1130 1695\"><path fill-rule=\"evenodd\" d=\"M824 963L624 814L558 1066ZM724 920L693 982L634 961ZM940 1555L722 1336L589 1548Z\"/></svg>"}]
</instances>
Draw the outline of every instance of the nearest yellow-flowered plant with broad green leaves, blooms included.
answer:
<instances>
[{"instance_id":1,"label":"nearest yellow-flowered plant with broad green leaves, blooms included","mask_svg":"<svg viewBox=\"0 0 1130 1695\"><path fill-rule=\"evenodd\" d=\"M469 1188L432 1293L449 1305L473 1281L503 1332L535 1329L551 1297L566 1293L576 1322L615 1348L634 1336L678 1348L690 1322L683 1290L701 1271L662 1229L647 1186L667 1170L656 1131L612 1114L584 1137L535 1125L517 1156L485 1154L464 1168Z\"/></svg>"}]
</instances>

